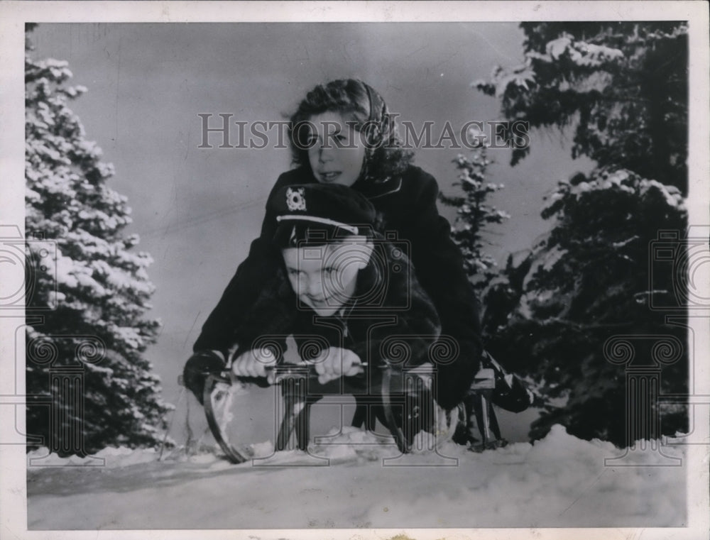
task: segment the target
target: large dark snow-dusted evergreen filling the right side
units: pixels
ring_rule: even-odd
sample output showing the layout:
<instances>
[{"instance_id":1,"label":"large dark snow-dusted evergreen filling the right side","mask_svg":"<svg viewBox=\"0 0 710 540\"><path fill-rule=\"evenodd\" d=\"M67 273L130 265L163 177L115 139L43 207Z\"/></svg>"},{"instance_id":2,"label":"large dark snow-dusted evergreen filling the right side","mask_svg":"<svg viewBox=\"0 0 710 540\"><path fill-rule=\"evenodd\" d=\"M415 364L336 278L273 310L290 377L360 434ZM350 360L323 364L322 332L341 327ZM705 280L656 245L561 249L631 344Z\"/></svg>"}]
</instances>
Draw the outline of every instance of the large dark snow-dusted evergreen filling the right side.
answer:
<instances>
[{"instance_id":1,"label":"large dark snow-dusted evergreen filling the right side","mask_svg":"<svg viewBox=\"0 0 710 540\"><path fill-rule=\"evenodd\" d=\"M633 442L628 366L605 357L606 340L631 336L635 361L650 366L658 354L653 336L686 341L682 326L667 324L667 313L648 299L665 296L671 305L682 285L672 265L654 267L650 248L660 231L683 238L687 228L687 24L521 26L523 65L498 67L476 86L501 99L507 119L528 121L533 134L572 126L572 155L598 167L559 182L546 197L542 216L555 220L551 231L528 257L510 260L508 279L492 287L510 309L487 321L488 345L540 383L547 406L533 438L557 423L575 436L625 446ZM514 150L513 165L529 151ZM673 314L682 324L682 313ZM687 351L674 358L662 368L662 393L687 392ZM654 406L663 434L687 429L683 407Z\"/></svg>"}]
</instances>

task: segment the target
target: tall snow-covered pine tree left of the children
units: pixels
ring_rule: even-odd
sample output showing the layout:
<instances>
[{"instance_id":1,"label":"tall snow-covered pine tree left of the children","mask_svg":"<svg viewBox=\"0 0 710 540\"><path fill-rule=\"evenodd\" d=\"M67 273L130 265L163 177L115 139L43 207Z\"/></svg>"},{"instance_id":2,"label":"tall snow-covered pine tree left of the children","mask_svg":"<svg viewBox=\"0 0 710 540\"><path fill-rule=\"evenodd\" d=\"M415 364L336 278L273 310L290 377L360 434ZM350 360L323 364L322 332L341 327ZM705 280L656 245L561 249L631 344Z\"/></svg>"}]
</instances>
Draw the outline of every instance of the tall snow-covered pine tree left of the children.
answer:
<instances>
[{"instance_id":1,"label":"tall snow-covered pine tree left of the children","mask_svg":"<svg viewBox=\"0 0 710 540\"><path fill-rule=\"evenodd\" d=\"M70 77L67 62L26 52L26 390L52 396L51 404L28 405L28 437L60 453L150 446L171 408L144 356L159 327L146 318L151 258L131 251L131 210L107 185L113 167L67 106L86 92L67 86ZM56 258L37 253L48 243ZM79 402L65 399L58 373L75 374L64 382L73 392L80 385ZM65 440L72 437L80 440Z\"/></svg>"}]
</instances>

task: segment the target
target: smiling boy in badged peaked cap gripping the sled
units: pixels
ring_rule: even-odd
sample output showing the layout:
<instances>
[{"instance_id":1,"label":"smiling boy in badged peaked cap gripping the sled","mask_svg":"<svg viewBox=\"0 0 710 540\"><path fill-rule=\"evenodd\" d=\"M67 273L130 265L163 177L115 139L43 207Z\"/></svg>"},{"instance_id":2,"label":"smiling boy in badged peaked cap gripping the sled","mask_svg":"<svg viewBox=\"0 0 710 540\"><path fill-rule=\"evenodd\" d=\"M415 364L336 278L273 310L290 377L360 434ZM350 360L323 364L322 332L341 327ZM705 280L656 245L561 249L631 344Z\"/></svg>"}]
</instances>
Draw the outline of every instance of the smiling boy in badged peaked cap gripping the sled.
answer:
<instances>
[{"instance_id":1,"label":"smiling boy in badged peaked cap gripping the sled","mask_svg":"<svg viewBox=\"0 0 710 540\"><path fill-rule=\"evenodd\" d=\"M356 375L364 363L378 373L386 362L406 369L430 360L436 309L406 245L373 232L368 199L342 185L302 184L276 190L267 207L278 221L271 248L281 264L229 336L235 375L265 377L283 360L288 335L321 384ZM185 365L185 385L201 401L207 374L224 365L222 353L198 351Z\"/></svg>"}]
</instances>

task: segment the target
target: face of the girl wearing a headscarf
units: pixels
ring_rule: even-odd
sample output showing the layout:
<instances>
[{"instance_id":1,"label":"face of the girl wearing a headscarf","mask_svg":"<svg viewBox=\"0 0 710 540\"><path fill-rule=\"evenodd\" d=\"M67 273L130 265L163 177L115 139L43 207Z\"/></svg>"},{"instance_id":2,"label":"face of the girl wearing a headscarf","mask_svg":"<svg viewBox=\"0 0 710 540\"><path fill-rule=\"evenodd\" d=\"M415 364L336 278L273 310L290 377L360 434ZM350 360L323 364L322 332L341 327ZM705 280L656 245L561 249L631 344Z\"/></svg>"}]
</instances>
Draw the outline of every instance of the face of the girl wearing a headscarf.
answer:
<instances>
[{"instance_id":1,"label":"face of the girl wearing a headscarf","mask_svg":"<svg viewBox=\"0 0 710 540\"><path fill-rule=\"evenodd\" d=\"M333 111L312 116L309 121L308 161L315 179L322 184L354 184L365 162L360 132Z\"/></svg>"}]
</instances>

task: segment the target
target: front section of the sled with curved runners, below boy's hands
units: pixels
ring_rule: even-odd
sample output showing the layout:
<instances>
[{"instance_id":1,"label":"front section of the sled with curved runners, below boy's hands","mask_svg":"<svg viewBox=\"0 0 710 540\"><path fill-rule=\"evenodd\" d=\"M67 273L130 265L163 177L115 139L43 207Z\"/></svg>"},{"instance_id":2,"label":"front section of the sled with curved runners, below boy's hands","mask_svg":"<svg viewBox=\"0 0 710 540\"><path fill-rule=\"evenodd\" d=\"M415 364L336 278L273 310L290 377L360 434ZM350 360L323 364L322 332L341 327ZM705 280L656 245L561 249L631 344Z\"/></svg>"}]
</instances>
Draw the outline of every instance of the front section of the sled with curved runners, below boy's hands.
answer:
<instances>
[{"instance_id":1,"label":"front section of the sled with curved runners, below boy's hands","mask_svg":"<svg viewBox=\"0 0 710 540\"><path fill-rule=\"evenodd\" d=\"M426 385L427 370L419 368L403 371L391 365L376 368L379 373L363 373L342 377L321 385L312 365L280 365L268 373L268 379L280 387L283 417L276 436L275 449L289 449L295 436L296 448L306 451L310 441L309 419L313 404L325 395L353 395L356 399L356 417L366 410L367 427L373 430L376 417L388 429L402 453L410 451L415 431L433 429L435 400ZM430 373L430 370L429 372ZM373 376L374 375L374 376ZM244 463L253 458L244 441L231 440L230 424L232 396L235 385L256 384L268 386L266 378L237 377L231 370L219 375L209 375L204 385L204 412L209 429L219 443L226 458L232 463ZM375 414L370 414L376 411ZM354 418L353 425L358 419ZM361 427L361 426L358 426Z\"/></svg>"}]
</instances>

